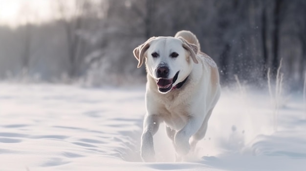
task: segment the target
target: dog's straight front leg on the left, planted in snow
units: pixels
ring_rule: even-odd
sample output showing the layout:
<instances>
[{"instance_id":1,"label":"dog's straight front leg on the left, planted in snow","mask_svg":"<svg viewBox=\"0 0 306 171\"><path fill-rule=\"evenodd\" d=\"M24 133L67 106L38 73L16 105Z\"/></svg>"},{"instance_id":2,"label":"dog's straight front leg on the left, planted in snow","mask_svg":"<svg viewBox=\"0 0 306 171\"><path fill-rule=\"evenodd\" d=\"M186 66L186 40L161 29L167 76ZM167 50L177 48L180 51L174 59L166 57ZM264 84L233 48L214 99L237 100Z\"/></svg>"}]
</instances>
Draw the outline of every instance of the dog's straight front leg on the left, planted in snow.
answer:
<instances>
[{"instance_id":1,"label":"dog's straight front leg on the left, planted in snow","mask_svg":"<svg viewBox=\"0 0 306 171\"><path fill-rule=\"evenodd\" d=\"M141 158L145 162L155 161L153 135L157 132L158 127L158 116L146 114L143 123L143 133L141 135Z\"/></svg>"}]
</instances>

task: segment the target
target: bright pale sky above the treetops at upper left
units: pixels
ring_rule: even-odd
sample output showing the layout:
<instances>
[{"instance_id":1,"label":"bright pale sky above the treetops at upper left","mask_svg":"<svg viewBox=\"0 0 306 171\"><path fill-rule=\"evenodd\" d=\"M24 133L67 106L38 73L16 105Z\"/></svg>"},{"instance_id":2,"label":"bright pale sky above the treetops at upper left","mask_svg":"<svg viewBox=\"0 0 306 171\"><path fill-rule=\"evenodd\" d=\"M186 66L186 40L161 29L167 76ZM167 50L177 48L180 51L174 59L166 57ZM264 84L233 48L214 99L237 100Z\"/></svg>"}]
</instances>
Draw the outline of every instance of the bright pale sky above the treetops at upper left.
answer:
<instances>
[{"instance_id":1,"label":"bright pale sky above the treetops at upper left","mask_svg":"<svg viewBox=\"0 0 306 171\"><path fill-rule=\"evenodd\" d=\"M92 0L99 2L100 0ZM27 22L40 24L62 15L64 7L66 17L75 15L75 9L81 0L0 0L0 25L16 27Z\"/></svg>"}]
</instances>

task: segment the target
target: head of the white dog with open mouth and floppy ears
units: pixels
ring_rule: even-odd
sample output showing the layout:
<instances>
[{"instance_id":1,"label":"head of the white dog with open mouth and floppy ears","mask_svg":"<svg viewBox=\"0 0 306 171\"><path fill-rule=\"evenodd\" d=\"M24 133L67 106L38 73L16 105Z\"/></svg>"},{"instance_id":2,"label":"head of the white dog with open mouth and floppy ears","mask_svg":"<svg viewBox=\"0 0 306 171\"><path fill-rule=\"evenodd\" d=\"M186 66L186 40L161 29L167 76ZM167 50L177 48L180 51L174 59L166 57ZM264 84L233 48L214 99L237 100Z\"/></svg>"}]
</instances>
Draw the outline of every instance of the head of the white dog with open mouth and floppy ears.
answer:
<instances>
[{"instance_id":1,"label":"head of the white dog with open mouth and floppy ears","mask_svg":"<svg viewBox=\"0 0 306 171\"><path fill-rule=\"evenodd\" d=\"M133 51L138 68L146 58L147 72L156 81L160 93L168 93L189 76L197 61L197 45L184 38L153 37Z\"/></svg>"}]
</instances>

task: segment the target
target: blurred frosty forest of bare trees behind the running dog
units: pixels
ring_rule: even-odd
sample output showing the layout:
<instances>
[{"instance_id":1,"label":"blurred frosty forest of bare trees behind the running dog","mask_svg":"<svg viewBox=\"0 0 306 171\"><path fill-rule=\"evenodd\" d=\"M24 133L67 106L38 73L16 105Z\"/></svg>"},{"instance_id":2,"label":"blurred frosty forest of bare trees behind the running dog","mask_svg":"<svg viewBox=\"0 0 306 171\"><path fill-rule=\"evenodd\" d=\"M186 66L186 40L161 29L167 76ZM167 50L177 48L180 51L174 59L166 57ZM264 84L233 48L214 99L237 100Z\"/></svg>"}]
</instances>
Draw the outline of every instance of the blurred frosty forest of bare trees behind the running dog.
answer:
<instances>
[{"instance_id":1,"label":"blurred frosty forest of bare trees behind the running dog","mask_svg":"<svg viewBox=\"0 0 306 171\"><path fill-rule=\"evenodd\" d=\"M15 2L1 0L0 7ZM195 33L201 51L216 61L222 84L238 77L262 86L268 69L274 78L282 59L286 84L290 89L303 86L305 0L44 2L47 14L31 1L19 5L16 19L0 13L2 80L90 86L143 82L145 68L137 69L132 50L152 36L174 36L184 29Z\"/></svg>"}]
</instances>

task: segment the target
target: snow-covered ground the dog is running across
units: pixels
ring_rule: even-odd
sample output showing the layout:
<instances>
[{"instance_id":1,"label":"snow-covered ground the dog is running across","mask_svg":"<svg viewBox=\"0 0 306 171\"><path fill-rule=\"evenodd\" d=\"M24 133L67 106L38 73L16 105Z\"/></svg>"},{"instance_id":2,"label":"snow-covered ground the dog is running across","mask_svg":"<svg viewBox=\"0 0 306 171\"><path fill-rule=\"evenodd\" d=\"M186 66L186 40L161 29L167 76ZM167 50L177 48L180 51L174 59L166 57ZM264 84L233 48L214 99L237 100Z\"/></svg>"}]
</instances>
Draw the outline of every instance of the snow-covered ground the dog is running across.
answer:
<instances>
[{"instance_id":1,"label":"snow-covered ground the dog is running across","mask_svg":"<svg viewBox=\"0 0 306 171\"><path fill-rule=\"evenodd\" d=\"M302 94L284 96L273 131L267 91L224 88L205 139L185 162L163 125L156 163L139 143L145 86L92 89L0 84L0 171L305 171Z\"/></svg>"}]
</instances>

